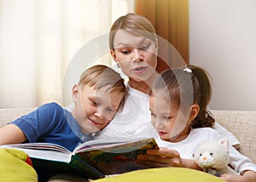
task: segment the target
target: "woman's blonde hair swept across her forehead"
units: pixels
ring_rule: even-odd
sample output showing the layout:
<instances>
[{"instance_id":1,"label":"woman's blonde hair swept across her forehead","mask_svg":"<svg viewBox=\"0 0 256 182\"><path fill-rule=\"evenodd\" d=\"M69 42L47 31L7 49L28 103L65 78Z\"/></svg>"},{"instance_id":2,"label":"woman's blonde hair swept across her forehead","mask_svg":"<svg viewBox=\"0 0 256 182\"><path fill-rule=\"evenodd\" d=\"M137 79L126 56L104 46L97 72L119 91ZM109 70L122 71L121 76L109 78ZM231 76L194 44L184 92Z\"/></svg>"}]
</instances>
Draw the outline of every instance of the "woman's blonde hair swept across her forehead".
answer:
<instances>
[{"instance_id":1,"label":"woman's blonde hair swept across her forehead","mask_svg":"<svg viewBox=\"0 0 256 182\"><path fill-rule=\"evenodd\" d=\"M109 32L109 48L113 50L113 38L118 30L125 30L139 37L146 37L152 41L157 40L156 31L151 22L139 14L126 14L115 20Z\"/></svg>"}]
</instances>

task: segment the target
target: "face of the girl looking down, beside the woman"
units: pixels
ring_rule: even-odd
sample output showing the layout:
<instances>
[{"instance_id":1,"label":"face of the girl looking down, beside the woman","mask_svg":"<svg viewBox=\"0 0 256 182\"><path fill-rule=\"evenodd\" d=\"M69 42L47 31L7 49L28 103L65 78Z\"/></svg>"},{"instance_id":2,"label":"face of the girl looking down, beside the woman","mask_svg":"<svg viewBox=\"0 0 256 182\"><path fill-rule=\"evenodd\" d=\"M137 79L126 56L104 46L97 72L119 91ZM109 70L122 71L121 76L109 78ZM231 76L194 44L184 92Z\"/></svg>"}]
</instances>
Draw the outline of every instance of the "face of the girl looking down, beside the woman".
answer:
<instances>
[{"instance_id":1,"label":"face of the girl looking down, beside the woman","mask_svg":"<svg viewBox=\"0 0 256 182\"><path fill-rule=\"evenodd\" d=\"M150 96L151 122L161 139L178 142L189 135L189 118L183 115L177 105L167 101L164 94L160 92Z\"/></svg>"}]
</instances>

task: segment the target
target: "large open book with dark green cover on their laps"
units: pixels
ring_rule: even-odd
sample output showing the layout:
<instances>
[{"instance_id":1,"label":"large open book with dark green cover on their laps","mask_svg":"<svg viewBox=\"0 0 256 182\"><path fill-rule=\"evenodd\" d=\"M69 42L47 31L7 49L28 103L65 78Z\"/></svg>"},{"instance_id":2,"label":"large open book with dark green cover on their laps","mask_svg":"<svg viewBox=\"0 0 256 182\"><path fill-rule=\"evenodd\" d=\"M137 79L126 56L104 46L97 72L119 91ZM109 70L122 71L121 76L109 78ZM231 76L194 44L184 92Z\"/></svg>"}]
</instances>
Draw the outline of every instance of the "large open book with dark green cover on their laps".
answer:
<instances>
[{"instance_id":1,"label":"large open book with dark green cover on their laps","mask_svg":"<svg viewBox=\"0 0 256 182\"><path fill-rule=\"evenodd\" d=\"M0 145L0 148L7 147L25 151L32 158L34 168L74 173L86 179L146 168L136 163L137 155L159 148L154 139L96 139L84 142L74 151L49 143Z\"/></svg>"}]
</instances>

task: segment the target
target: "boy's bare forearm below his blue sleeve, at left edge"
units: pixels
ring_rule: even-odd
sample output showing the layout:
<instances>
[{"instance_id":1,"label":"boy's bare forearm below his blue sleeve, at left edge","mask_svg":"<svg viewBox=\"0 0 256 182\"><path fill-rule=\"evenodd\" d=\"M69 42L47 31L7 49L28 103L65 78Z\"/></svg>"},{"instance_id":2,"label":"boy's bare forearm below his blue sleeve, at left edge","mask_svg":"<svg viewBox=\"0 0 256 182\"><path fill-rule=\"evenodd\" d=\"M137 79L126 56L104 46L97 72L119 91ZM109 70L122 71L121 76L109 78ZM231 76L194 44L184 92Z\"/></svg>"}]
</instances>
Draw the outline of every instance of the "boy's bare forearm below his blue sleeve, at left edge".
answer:
<instances>
[{"instance_id":1,"label":"boy's bare forearm below his blue sleeve, at left edge","mask_svg":"<svg viewBox=\"0 0 256 182\"><path fill-rule=\"evenodd\" d=\"M0 128L0 145L20 144L26 141L26 136L15 124Z\"/></svg>"}]
</instances>

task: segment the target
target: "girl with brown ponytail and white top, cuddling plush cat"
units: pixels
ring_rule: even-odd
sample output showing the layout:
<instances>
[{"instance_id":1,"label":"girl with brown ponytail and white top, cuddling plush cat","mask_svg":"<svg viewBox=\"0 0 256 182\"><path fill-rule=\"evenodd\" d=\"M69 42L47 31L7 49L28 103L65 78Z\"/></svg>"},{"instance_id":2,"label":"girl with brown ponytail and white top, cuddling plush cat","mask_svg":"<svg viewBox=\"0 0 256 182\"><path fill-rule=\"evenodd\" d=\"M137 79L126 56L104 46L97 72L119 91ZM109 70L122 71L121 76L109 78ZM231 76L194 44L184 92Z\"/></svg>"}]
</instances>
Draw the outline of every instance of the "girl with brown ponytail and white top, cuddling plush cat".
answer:
<instances>
[{"instance_id":1,"label":"girl with brown ponytail and white top, cuddling plush cat","mask_svg":"<svg viewBox=\"0 0 256 182\"><path fill-rule=\"evenodd\" d=\"M179 152L175 156L177 166L200 169L193 160L196 147L205 140L221 138L212 129L214 119L207 111L211 96L212 87L207 71L195 65L164 71L154 82L149 99L151 122L159 134L158 144ZM150 150L148 155L138 157L139 162L154 167L170 166L164 150ZM223 174L221 179L256 180L256 165L231 145L230 166L240 175Z\"/></svg>"}]
</instances>

